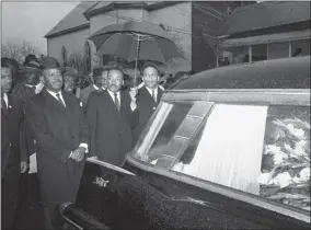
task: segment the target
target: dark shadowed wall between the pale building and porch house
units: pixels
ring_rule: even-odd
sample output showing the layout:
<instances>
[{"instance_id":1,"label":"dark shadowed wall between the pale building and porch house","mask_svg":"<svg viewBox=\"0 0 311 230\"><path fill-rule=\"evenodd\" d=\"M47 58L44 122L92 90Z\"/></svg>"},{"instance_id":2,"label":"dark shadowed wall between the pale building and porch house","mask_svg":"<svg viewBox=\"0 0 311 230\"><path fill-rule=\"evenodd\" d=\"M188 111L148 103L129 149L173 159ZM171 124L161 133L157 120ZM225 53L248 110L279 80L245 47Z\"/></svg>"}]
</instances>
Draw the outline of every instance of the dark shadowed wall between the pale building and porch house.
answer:
<instances>
[{"instance_id":1,"label":"dark shadowed wall between the pale building and porch house","mask_svg":"<svg viewBox=\"0 0 311 230\"><path fill-rule=\"evenodd\" d=\"M192 65L195 72L211 69L217 64L219 30L232 11L252 1L197 1L193 2Z\"/></svg>"}]
</instances>

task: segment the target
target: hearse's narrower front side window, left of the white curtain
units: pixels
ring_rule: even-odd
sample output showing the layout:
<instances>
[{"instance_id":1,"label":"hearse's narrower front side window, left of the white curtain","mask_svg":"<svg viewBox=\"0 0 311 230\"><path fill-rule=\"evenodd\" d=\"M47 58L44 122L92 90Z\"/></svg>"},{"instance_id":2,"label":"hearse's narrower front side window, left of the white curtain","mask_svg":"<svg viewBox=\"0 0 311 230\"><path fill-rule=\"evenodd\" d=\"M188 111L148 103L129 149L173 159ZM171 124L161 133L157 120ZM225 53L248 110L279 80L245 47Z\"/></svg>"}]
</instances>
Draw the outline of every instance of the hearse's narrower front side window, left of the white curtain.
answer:
<instances>
[{"instance_id":1,"label":"hearse's narrower front side window, left of the white curtain","mask_svg":"<svg viewBox=\"0 0 311 230\"><path fill-rule=\"evenodd\" d=\"M164 102L147 125L135 147L134 157L169 169L195 134L212 103Z\"/></svg>"}]
</instances>

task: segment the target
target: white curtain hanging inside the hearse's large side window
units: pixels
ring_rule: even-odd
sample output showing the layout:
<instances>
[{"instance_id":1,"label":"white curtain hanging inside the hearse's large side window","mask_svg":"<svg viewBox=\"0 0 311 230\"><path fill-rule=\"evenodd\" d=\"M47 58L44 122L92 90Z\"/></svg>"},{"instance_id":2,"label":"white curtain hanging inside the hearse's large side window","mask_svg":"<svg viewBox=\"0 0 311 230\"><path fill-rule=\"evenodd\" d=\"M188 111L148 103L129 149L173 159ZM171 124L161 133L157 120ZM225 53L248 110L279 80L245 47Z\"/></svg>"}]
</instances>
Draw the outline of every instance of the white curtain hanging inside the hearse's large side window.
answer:
<instances>
[{"instance_id":1,"label":"white curtain hanging inside the hearse's large side window","mask_svg":"<svg viewBox=\"0 0 311 230\"><path fill-rule=\"evenodd\" d=\"M194 156L173 170L258 195L266 113L267 106L216 105L197 148L191 145Z\"/></svg>"}]
</instances>

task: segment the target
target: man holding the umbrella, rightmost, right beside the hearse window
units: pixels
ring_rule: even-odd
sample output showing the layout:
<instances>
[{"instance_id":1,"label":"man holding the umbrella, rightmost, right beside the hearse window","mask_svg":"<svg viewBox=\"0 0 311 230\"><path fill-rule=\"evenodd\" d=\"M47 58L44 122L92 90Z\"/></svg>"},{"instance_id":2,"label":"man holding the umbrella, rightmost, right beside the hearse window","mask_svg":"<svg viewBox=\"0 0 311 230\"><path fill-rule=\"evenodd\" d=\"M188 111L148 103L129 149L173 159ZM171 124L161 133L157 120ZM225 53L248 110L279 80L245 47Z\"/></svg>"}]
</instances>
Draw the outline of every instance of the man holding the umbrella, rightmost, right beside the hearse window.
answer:
<instances>
[{"instance_id":1,"label":"man holding the umbrella, rightmost, right beside the hearse window","mask_svg":"<svg viewBox=\"0 0 311 230\"><path fill-rule=\"evenodd\" d=\"M138 90L137 106L139 114L138 126L134 128L134 140L138 140L149 118L156 111L163 90L159 85L159 68L153 62L146 62L142 67L142 81L145 85Z\"/></svg>"}]
</instances>

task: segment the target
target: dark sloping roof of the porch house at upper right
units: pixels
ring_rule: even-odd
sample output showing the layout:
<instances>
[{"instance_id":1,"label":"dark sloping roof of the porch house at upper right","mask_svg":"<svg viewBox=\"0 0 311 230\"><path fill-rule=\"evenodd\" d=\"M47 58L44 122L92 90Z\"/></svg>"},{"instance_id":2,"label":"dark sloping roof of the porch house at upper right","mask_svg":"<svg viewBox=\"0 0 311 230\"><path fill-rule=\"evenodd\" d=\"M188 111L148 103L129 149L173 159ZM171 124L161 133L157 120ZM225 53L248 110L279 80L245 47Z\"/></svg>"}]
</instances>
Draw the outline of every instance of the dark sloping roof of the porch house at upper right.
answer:
<instances>
[{"instance_id":1,"label":"dark sloping roof of the porch house at upper right","mask_svg":"<svg viewBox=\"0 0 311 230\"><path fill-rule=\"evenodd\" d=\"M266 1L237 8L220 35L233 35L310 21L309 1Z\"/></svg>"}]
</instances>

